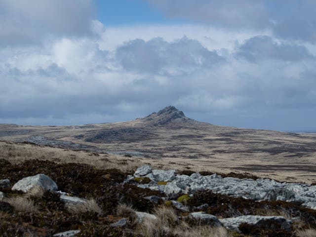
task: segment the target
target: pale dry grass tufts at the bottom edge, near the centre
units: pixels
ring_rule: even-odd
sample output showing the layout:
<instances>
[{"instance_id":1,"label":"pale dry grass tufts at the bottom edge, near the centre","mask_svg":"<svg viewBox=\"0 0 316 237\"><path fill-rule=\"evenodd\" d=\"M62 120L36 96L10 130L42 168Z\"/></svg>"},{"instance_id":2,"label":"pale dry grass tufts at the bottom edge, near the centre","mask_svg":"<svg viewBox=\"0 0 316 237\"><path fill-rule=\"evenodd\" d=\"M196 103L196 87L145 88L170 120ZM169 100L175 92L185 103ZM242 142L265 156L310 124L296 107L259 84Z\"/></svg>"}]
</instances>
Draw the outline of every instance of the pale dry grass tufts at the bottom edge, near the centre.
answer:
<instances>
[{"instance_id":1,"label":"pale dry grass tufts at the bottom edge, near the centre","mask_svg":"<svg viewBox=\"0 0 316 237\"><path fill-rule=\"evenodd\" d=\"M227 237L227 230L223 227L213 228L209 226L190 227L184 221L180 221L174 209L160 206L155 210L156 219L146 218L138 226L140 234L146 237Z\"/></svg>"}]
</instances>

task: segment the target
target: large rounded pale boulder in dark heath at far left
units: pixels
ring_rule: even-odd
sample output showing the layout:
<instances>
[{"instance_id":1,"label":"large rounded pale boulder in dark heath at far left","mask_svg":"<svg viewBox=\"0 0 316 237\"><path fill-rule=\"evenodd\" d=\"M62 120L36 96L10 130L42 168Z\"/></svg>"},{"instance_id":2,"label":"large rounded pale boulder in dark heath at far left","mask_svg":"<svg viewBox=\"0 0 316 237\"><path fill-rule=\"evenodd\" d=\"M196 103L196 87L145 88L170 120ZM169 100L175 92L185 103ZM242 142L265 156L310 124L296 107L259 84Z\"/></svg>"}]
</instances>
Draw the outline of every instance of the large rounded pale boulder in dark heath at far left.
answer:
<instances>
[{"instance_id":1,"label":"large rounded pale boulder in dark heath at far left","mask_svg":"<svg viewBox=\"0 0 316 237\"><path fill-rule=\"evenodd\" d=\"M41 187L44 190L57 191L58 187L56 183L44 174L37 174L21 179L15 183L12 190L22 191L24 193L29 192L34 187Z\"/></svg>"}]
</instances>

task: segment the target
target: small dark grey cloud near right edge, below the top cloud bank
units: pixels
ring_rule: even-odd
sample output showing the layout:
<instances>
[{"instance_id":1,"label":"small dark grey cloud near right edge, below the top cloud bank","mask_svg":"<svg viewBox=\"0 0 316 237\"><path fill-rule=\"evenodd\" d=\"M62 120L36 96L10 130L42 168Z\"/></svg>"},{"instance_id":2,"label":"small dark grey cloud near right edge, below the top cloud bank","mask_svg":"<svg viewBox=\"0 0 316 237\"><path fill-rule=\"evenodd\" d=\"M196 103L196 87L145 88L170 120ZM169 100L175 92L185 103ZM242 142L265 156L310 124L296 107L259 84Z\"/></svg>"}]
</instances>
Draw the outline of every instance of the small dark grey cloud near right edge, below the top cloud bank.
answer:
<instances>
[{"instance_id":1,"label":"small dark grey cloud near right edge, below the top cloud bank","mask_svg":"<svg viewBox=\"0 0 316 237\"><path fill-rule=\"evenodd\" d=\"M292 62L313 59L313 55L305 46L278 43L268 36L257 36L247 40L239 47L237 56L243 57L249 62L257 62L261 59Z\"/></svg>"}]
</instances>

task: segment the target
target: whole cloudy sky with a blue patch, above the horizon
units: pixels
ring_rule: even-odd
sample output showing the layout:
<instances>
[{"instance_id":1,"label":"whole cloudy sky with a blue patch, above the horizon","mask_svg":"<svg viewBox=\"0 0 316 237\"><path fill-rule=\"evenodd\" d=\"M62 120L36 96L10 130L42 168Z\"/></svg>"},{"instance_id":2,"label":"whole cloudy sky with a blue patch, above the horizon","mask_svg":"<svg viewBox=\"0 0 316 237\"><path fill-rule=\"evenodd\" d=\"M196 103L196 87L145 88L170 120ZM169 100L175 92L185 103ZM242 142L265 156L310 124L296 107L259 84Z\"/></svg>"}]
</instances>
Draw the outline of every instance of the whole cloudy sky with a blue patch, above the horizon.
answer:
<instances>
[{"instance_id":1,"label":"whole cloudy sky with a blue patch, above the horizon","mask_svg":"<svg viewBox=\"0 0 316 237\"><path fill-rule=\"evenodd\" d=\"M0 123L316 131L315 0L0 0Z\"/></svg>"}]
</instances>

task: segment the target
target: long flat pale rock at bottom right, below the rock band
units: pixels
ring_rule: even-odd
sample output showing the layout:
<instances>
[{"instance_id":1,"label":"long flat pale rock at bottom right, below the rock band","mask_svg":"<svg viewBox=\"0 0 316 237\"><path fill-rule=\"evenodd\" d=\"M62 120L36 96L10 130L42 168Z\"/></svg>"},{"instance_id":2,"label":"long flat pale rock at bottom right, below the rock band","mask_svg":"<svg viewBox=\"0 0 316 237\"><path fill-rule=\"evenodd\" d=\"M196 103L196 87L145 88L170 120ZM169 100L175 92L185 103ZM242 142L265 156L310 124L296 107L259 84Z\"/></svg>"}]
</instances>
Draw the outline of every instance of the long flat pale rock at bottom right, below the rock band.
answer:
<instances>
[{"instance_id":1,"label":"long flat pale rock at bottom right, below the rock band","mask_svg":"<svg viewBox=\"0 0 316 237\"><path fill-rule=\"evenodd\" d=\"M238 227L241 223L247 223L256 226L265 226L265 222L272 221L275 224L279 224L281 229L289 230L292 222L285 219L283 216L238 216L232 218L219 219L219 221L229 230L238 231Z\"/></svg>"}]
</instances>

